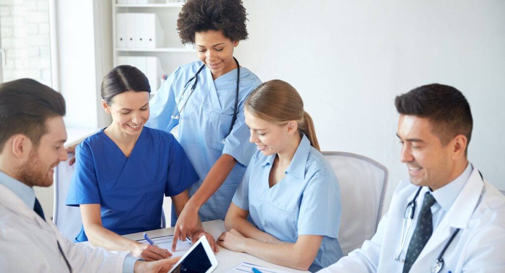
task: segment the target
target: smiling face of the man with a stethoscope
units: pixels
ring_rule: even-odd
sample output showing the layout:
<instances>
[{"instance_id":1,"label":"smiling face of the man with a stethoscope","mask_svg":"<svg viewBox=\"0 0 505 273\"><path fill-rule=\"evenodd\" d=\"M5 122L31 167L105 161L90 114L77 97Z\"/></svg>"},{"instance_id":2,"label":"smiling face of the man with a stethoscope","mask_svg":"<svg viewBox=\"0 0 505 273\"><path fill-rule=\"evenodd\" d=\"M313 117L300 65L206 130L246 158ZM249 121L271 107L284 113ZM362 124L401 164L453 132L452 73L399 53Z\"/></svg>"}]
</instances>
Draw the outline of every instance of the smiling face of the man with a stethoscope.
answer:
<instances>
[{"instance_id":1,"label":"smiling face of the man with a stethoscope","mask_svg":"<svg viewBox=\"0 0 505 273\"><path fill-rule=\"evenodd\" d=\"M440 188L461 174L466 138L457 135L447 145L432 132L428 118L400 115L398 138L401 147L401 162L409 169L410 180L418 186Z\"/></svg>"}]
</instances>

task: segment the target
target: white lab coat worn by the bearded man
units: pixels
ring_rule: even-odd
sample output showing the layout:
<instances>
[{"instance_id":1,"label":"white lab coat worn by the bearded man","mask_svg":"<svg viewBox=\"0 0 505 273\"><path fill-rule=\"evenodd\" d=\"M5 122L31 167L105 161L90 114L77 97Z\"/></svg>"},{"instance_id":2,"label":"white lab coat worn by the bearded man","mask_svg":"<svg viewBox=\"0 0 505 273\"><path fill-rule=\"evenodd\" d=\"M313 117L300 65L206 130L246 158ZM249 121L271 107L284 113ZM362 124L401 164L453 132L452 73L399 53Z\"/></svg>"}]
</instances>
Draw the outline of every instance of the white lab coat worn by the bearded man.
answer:
<instances>
[{"instance_id":1,"label":"white lab coat worn by the bearded man","mask_svg":"<svg viewBox=\"0 0 505 273\"><path fill-rule=\"evenodd\" d=\"M73 272L122 272L128 254L74 244L0 184L0 272L68 272L57 241Z\"/></svg>"}]
</instances>

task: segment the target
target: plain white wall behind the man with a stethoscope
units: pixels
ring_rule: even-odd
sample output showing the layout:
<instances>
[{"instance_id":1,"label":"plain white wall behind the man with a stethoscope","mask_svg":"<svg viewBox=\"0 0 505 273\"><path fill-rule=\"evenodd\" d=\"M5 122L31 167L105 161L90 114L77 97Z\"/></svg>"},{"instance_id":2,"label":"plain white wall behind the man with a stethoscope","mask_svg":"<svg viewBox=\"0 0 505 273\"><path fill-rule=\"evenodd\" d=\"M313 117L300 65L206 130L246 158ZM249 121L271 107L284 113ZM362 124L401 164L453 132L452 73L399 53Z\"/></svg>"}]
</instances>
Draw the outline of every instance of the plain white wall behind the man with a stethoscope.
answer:
<instances>
[{"instance_id":1,"label":"plain white wall behind the man with a stethoscope","mask_svg":"<svg viewBox=\"0 0 505 273\"><path fill-rule=\"evenodd\" d=\"M452 85L474 117L469 159L505 188L505 2L244 0L241 65L304 98L323 150L371 157L390 170L387 204L407 178L394 97Z\"/></svg>"}]
</instances>

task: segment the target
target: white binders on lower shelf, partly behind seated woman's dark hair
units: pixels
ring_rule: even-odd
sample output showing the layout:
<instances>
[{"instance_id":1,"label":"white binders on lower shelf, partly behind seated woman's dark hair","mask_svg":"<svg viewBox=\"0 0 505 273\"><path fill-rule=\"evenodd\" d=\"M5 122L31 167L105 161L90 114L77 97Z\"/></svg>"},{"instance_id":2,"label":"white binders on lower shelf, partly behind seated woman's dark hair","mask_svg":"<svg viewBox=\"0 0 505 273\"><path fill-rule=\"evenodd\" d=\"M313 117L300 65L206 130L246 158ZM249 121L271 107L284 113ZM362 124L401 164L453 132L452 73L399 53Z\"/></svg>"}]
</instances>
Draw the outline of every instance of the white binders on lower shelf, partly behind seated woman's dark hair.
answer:
<instances>
[{"instance_id":1,"label":"white binders on lower shelf, partly behind seated woman's dark hair","mask_svg":"<svg viewBox=\"0 0 505 273\"><path fill-rule=\"evenodd\" d=\"M149 81L151 94L156 93L162 84L163 70L161 62L155 56L118 56L117 65L129 64L137 67Z\"/></svg>"}]
</instances>

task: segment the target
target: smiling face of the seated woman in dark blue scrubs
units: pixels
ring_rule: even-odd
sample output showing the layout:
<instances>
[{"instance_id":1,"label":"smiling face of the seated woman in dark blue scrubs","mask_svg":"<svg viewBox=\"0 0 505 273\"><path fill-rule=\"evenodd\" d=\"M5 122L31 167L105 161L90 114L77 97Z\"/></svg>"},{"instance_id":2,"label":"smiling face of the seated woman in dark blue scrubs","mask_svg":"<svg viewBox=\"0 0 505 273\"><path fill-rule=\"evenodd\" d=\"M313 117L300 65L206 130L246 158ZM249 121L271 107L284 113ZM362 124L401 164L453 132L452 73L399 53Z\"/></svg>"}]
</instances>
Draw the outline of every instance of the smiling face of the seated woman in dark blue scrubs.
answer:
<instances>
[{"instance_id":1,"label":"smiling face of the seated woman in dark blue scrubs","mask_svg":"<svg viewBox=\"0 0 505 273\"><path fill-rule=\"evenodd\" d=\"M113 97L111 104L102 101L112 116L111 127L128 135L139 135L149 119L149 93L126 91Z\"/></svg>"}]
</instances>

